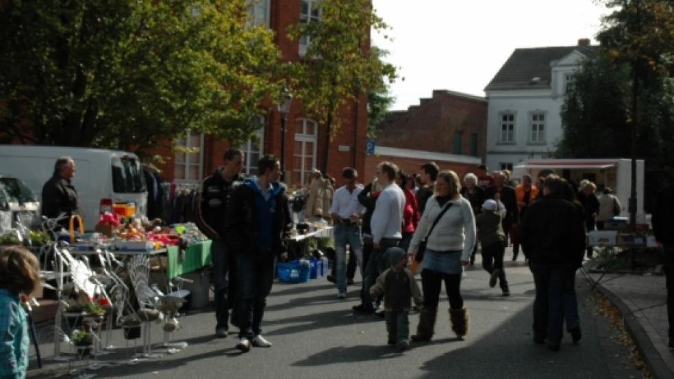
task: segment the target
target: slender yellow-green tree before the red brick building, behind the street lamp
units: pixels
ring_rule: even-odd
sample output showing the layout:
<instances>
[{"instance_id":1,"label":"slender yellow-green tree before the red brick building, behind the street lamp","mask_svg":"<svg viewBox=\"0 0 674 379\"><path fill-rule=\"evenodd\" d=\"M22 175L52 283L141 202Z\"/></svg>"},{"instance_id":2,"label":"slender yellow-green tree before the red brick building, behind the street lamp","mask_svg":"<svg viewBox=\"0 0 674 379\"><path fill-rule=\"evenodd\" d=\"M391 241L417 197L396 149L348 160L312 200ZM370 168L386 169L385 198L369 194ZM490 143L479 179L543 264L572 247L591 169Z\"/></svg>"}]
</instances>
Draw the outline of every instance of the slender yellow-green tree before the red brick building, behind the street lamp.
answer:
<instances>
[{"instance_id":1,"label":"slender yellow-green tree before the red brick building, behind the street lamp","mask_svg":"<svg viewBox=\"0 0 674 379\"><path fill-rule=\"evenodd\" d=\"M303 59L288 63L286 69L305 114L325 127L321 162L325 172L329 141L341 124L340 107L347 101L358 102L361 94L377 88L382 77L394 80L396 71L379 59L376 49L369 49L368 31L388 28L370 0L322 0L317 4L320 21L301 21L288 29L290 38L306 38L309 44Z\"/></svg>"}]
</instances>

